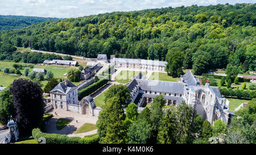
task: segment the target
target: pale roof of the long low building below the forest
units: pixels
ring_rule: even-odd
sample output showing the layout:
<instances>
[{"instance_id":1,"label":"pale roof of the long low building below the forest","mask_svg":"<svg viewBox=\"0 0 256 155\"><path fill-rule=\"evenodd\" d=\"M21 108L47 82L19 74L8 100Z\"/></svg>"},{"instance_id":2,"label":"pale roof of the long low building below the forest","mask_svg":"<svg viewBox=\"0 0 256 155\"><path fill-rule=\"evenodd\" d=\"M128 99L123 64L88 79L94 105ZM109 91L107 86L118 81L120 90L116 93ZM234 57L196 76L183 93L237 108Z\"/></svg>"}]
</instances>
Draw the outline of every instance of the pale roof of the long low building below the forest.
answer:
<instances>
[{"instance_id":1,"label":"pale roof of the long low building below the forest","mask_svg":"<svg viewBox=\"0 0 256 155\"><path fill-rule=\"evenodd\" d=\"M166 61L158 60L144 60L144 59L135 59L135 58L113 58L113 62L117 64L142 64L142 65L154 65L154 66L163 66L165 67Z\"/></svg>"}]
</instances>

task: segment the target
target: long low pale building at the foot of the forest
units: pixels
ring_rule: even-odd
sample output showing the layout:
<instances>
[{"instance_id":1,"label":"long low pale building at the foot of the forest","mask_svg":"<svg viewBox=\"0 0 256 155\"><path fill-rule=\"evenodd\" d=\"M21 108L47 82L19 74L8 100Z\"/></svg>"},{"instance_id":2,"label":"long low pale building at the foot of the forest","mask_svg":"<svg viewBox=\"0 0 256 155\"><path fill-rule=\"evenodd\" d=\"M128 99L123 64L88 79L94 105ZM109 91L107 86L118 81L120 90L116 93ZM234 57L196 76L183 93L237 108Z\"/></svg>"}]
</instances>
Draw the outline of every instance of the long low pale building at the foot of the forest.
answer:
<instances>
[{"instance_id":1,"label":"long low pale building at the foot of the forest","mask_svg":"<svg viewBox=\"0 0 256 155\"><path fill-rule=\"evenodd\" d=\"M134 58L113 58L111 63L115 65L115 68L154 70L158 72L164 72L167 64L166 61Z\"/></svg>"}]
</instances>

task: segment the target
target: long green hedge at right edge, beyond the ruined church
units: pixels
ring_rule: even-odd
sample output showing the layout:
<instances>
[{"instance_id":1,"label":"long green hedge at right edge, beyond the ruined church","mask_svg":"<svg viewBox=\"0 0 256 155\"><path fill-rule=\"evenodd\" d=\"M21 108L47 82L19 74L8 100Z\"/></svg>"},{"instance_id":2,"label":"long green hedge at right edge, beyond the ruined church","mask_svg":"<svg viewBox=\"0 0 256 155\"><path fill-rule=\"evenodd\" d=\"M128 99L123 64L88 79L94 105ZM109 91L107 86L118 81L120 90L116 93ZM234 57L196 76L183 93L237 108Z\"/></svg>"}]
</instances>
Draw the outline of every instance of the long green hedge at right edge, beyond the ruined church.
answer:
<instances>
[{"instance_id":1,"label":"long green hedge at right edge, beyond the ruined church","mask_svg":"<svg viewBox=\"0 0 256 155\"><path fill-rule=\"evenodd\" d=\"M237 97L238 99L241 98L256 98L256 90L250 91L250 90L233 90L233 89L226 89L226 88L219 88L220 93L224 96L229 97Z\"/></svg>"}]
</instances>

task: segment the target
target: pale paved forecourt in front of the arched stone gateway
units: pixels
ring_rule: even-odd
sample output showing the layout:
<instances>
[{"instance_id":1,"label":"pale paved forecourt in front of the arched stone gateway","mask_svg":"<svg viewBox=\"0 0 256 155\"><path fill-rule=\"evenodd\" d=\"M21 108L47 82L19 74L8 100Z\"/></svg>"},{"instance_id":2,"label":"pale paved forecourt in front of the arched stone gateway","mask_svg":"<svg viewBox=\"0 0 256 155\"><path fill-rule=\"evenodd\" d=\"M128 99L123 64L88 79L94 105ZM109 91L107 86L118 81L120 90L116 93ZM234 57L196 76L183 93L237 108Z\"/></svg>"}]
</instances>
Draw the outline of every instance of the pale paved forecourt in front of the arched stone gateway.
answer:
<instances>
[{"instance_id":1,"label":"pale paved forecourt in front of the arched stone gateway","mask_svg":"<svg viewBox=\"0 0 256 155\"><path fill-rule=\"evenodd\" d=\"M55 115L55 111L57 115ZM49 113L53 114L53 117L48 120L48 123L46 125L47 133L57 133L61 135L73 134L77 129L79 129L82 125L84 125L84 123L96 124L98 120L97 116L82 115L76 112L59 110L59 109L51 110L49 111ZM57 119L59 118L71 119L72 122L69 123L63 129L57 130L56 123L57 123ZM77 123L76 123L76 120L77 120ZM94 132L92 134L94 134ZM74 136L76 136L76 134L74 134Z\"/></svg>"}]
</instances>

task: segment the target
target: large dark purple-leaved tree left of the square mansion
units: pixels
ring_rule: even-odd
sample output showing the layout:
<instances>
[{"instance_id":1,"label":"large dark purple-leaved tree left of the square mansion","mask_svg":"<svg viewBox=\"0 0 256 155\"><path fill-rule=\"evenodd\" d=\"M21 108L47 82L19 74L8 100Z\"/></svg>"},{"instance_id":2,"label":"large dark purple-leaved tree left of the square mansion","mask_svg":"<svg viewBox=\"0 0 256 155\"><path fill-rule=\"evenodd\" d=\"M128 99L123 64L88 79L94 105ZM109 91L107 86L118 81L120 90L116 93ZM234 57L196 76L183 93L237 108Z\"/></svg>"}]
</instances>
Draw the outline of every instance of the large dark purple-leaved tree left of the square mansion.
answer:
<instances>
[{"instance_id":1,"label":"large dark purple-leaved tree left of the square mansion","mask_svg":"<svg viewBox=\"0 0 256 155\"><path fill-rule=\"evenodd\" d=\"M37 83L27 79L15 79L10 92L13 95L20 135L29 135L33 128L40 127L45 106L43 90Z\"/></svg>"}]
</instances>

